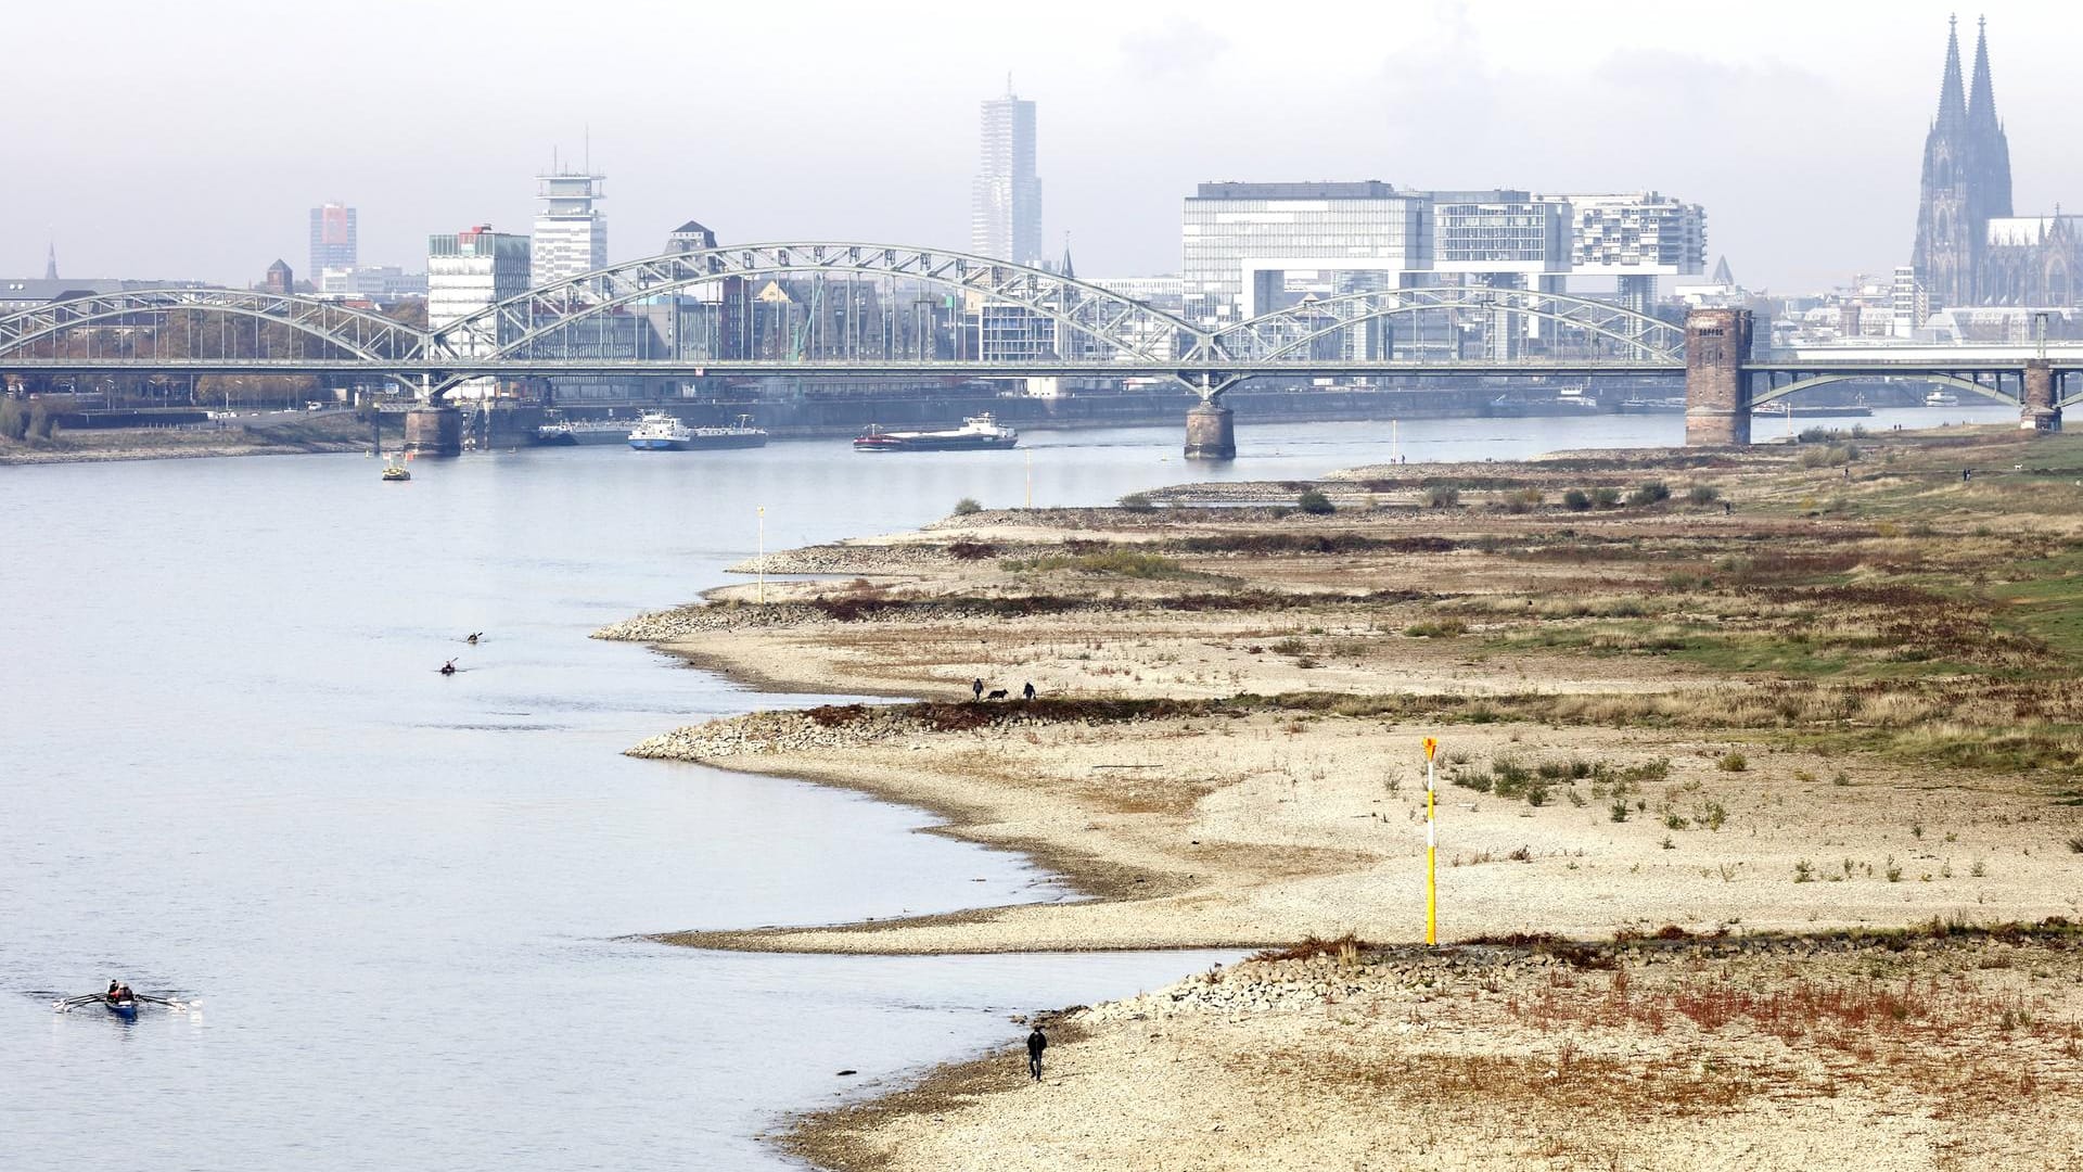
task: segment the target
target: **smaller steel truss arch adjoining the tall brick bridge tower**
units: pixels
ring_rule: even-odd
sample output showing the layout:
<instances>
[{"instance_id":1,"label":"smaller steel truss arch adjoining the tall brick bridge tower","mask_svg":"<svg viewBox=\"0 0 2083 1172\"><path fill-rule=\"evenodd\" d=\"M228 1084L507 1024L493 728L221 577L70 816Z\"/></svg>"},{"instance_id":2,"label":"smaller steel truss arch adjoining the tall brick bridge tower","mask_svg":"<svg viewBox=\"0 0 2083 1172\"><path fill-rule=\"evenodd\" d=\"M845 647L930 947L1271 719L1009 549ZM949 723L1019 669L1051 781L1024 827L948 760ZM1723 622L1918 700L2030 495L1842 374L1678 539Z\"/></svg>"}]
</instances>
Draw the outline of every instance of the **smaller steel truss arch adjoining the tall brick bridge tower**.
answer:
<instances>
[{"instance_id":1,"label":"smaller steel truss arch adjoining the tall brick bridge tower","mask_svg":"<svg viewBox=\"0 0 2083 1172\"><path fill-rule=\"evenodd\" d=\"M1381 300L1394 300L1394 304L1379 304ZM1279 361L1306 355L1319 338L1364 321L1446 309L1539 317L1616 342L1633 350L1637 361L1685 361L1685 332L1668 321L1606 300L1494 286L1419 286L1304 300L1239 321L1219 332L1214 344L1237 361ZM1325 323L1327 319L1329 323Z\"/></svg>"}]
</instances>

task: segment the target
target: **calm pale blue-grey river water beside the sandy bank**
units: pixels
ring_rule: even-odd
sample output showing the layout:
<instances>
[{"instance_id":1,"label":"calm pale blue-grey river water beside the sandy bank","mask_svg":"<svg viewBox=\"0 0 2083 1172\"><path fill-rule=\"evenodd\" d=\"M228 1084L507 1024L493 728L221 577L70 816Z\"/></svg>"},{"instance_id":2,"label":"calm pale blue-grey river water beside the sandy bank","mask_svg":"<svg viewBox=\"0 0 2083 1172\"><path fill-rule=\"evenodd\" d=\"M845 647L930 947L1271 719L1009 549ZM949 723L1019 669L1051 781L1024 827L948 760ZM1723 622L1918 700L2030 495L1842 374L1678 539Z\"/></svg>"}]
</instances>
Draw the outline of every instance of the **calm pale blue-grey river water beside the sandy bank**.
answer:
<instances>
[{"instance_id":1,"label":"calm pale blue-grey river water beside the sandy bank","mask_svg":"<svg viewBox=\"0 0 2083 1172\"><path fill-rule=\"evenodd\" d=\"M1427 419L1396 442L1416 463L1679 430ZM1389 434L1246 423L1219 469L1181 463L1177 428L1031 455L523 450L410 484L360 457L0 467L0 1168L775 1168L756 1137L787 1112L1206 966L627 938L1064 893L912 809L621 757L819 699L585 634L725 582L758 507L783 548L1019 505L1029 473L1035 505L1106 503L1381 461ZM204 1005L50 1011L110 976Z\"/></svg>"}]
</instances>

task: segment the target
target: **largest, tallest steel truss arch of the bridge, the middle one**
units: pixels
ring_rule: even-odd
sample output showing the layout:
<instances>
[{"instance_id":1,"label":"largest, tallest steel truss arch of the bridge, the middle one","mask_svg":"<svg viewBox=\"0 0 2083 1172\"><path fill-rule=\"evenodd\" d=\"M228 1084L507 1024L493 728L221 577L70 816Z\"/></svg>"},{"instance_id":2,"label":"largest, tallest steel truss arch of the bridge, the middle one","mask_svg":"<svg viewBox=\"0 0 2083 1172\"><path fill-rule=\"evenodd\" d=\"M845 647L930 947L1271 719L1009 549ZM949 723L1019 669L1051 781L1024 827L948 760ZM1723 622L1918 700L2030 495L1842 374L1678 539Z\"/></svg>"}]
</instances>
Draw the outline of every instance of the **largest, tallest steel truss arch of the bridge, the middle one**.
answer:
<instances>
[{"instance_id":1,"label":"largest, tallest steel truss arch of the bridge, the middle one","mask_svg":"<svg viewBox=\"0 0 2083 1172\"><path fill-rule=\"evenodd\" d=\"M646 298L729 279L848 273L973 292L1029 309L1114 355L1146 363L1200 350L1206 334L1160 309L1077 277L946 248L864 242L773 242L623 261L485 307L429 332L442 357L529 357L537 342ZM550 313L537 321L537 309ZM1058 336L1058 346L1062 340Z\"/></svg>"}]
</instances>

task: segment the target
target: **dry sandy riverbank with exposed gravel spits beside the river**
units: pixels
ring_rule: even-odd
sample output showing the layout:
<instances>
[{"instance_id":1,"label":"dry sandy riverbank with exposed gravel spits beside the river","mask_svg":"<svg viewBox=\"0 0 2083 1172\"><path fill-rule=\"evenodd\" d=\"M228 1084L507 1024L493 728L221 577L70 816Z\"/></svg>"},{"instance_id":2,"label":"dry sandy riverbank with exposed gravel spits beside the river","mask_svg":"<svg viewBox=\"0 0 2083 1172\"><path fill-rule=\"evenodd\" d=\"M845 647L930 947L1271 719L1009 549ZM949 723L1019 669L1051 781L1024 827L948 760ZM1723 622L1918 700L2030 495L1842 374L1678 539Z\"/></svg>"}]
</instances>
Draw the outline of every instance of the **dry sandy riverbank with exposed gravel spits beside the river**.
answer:
<instances>
[{"instance_id":1,"label":"dry sandy riverbank with exposed gravel spits beside the river","mask_svg":"<svg viewBox=\"0 0 2083 1172\"><path fill-rule=\"evenodd\" d=\"M1981 471L1964 482L1960 467ZM948 820L942 832L1029 851L1087 895L662 938L898 953L1277 947L1348 932L1416 941L1423 736L1444 744L1446 938L2083 918L2083 690L2073 684L2083 444L1991 432L1668 463L1596 453L1398 465L1314 486L1329 513L1296 511L1304 488L1154 494L1219 507L981 513L796 551L767 569L823 578L769 582L769 605L731 586L602 632L762 686L929 697L714 722L631 753L923 805ZM964 703L973 678L1014 699ZM1017 699L1027 682L1037 703ZM2029 972L2066 974L2048 978L2058 995L2037 1020L2073 1022L2071 953L2035 947L2054 959ZM1714 963L1768 995L1791 995L1821 972L1806 957ZM1398 1049L1371 1030L1394 1028L1379 1022L1402 993L1350 991L1373 997L1371 1024L1354 1026L1329 1009L1348 995L1327 1001L1321 980L1304 984L1300 997L1277 997L1298 1016L1227 1011L1185 1034L1144 1036L1119 1005L1073 1018L1064 1070L1108 1074L1048 1089L1060 1097L1050 1112L1073 1114L1033 1126L1060 1143L1021 1130L1033 1107L1014 1095L948 1099L931 1086L812 1120L800 1143L844 1168L967 1168L983 1151L994 1166L1035 1168L1804 1166L1802 1151L1825 1164L1854 1151L1858 1126L1902 1112L1939 1118L1910 1066L1875 1059L1881 1074L1854 1095L1864 1105L1833 1124L1835 1139L1810 1143L1785 1122L1789 1103L1821 1101L1825 1084L1839 1093L1823 1099L1854 1101L1843 1078L1816 1074L1812 1039L1714 1026L1708 1041L1743 1070L1787 1061L1823 1080L1771 1074L1754 1080L1762 1089L1725 1095L1683 1076L1664 1095L1656 1070L1683 1068L1708 1041L1679 1045L1679 1034L1629 1020L1598 1028L1648 1049L1598 1051L1598 1080L1650 1070L1637 1103L1646 1120L1673 1134L1729 1128L1729 1145L1658 1164L1602 1132L1598 1112L1525 1132L1571 1107L1564 1095L1527 1099L1525 1126L1485 1124L1452 1143L1435 1128L1421 1151L1408 1147L1414 1116L1360 1109L1396 1080L1369 1064L1444 1053L1481 1068L1481 1078L1450 1082L1450 1114L1496 1124L1485 1080L1546 1078L1548 1068L1527 1066L1529 1036L1491 1014L1496 999L1479 986L1466 1011L1444 1001L1454 1011L1427 1026L1425 1045ZM1450 1053L1433 1045L1439 1028L1456 1039ZM1858 1030L1843 1036L1852 1053L1866 1045ZM2073 1057L2052 1051L2041 1084L2066 1086ZM1150 1064L1177 1068L1183 1082ZM935 1084L989 1082L977 1070ZM1325 1070L1350 1078L1319 1084ZM1131 1095L1137 1086L1164 1093ZM1373 1091L1356 1097L1352 1086ZM2033 1095L2021 1109L2043 1101ZM1289 1122L1227 1139L1204 1126L1252 1112ZM1062 1141L1066 1120L1081 1124L1077 1143ZM1925 1128L1943 1139L1927 1155L1996 1151L1993 1132L1962 1128ZM852 1139L831 1139L839 1134ZM1008 1134L1035 1141L989 1147ZM1269 1134L1281 1137L1279 1162ZM1164 1139L1177 1159L1127 1159L1129 1149L1112 1147L1127 1137Z\"/></svg>"}]
</instances>

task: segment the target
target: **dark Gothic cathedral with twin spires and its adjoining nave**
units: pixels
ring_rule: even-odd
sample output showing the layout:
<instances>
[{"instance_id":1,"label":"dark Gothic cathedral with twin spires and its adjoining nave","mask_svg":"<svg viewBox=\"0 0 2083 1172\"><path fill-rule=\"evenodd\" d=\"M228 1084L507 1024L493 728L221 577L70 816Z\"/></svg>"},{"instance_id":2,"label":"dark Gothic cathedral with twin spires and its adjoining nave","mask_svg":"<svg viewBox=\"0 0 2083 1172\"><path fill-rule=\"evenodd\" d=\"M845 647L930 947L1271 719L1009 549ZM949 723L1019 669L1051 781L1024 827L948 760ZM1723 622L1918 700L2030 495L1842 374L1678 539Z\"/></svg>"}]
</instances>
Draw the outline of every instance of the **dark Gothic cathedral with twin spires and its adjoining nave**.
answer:
<instances>
[{"instance_id":1,"label":"dark Gothic cathedral with twin spires and its adjoining nave","mask_svg":"<svg viewBox=\"0 0 2083 1172\"><path fill-rule=\"evenodd\" d=\"M1985 25L1985 23L1983 23ZM1916 277L1931 309L2077 304L2083 217L2010 215L2010 142L1996 117L1989 33L1975 38L1975 79L1960 83L1960 33L1946 33L1939 113L1925 136L1916 202Z\"/></svg>"}]
</instances>

